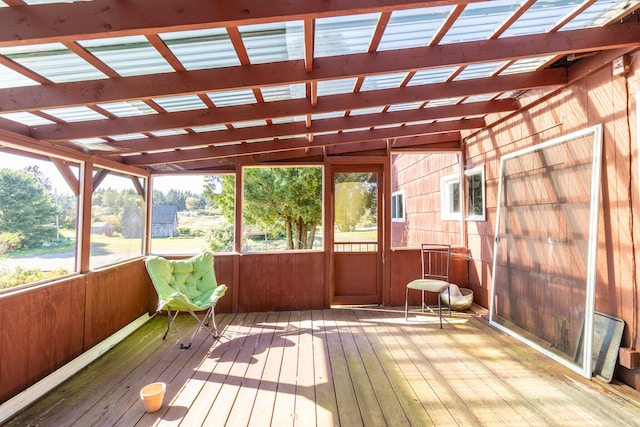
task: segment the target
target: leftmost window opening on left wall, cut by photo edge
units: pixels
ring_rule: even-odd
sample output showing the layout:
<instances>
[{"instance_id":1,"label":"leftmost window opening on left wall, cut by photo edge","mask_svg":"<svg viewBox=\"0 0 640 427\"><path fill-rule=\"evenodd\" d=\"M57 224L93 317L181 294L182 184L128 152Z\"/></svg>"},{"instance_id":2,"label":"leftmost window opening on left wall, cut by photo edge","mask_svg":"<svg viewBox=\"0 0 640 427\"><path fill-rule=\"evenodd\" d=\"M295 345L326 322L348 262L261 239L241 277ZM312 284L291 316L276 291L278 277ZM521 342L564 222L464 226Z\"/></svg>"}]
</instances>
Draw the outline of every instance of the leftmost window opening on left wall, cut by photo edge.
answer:
<instances>
[{"instance_id":1,"label":"leftmost window opening on left wall, cut by photo edge","mask_svg":"<svg viewBox=\"0 0 640 427\"><path fill-rule=\"evenodd\" d=\"M79 170L60 159L0 155L0 289L75 271L78 186L63 173L77 180Z\"/></svg>"}]
</instances>

